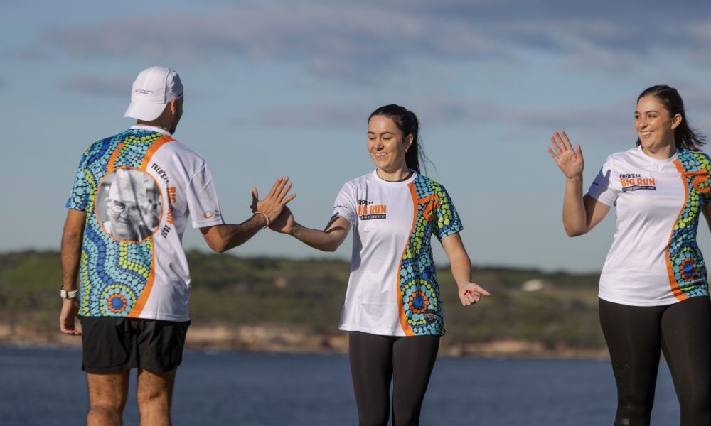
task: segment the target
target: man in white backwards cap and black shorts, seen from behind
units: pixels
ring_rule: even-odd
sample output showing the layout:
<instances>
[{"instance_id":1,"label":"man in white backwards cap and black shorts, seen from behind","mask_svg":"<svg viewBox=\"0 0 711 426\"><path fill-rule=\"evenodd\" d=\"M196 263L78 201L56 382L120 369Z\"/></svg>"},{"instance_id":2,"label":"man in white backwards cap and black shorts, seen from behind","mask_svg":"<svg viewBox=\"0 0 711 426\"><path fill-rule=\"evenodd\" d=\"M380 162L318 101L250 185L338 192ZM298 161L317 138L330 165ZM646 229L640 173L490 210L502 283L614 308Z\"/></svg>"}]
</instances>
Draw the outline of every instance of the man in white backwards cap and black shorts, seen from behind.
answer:
<instances>
[{"instance_id":1,"label":"man in white backwards cap and black shorts, seen from behind","mask_svg":"<svg viewBox=\"0 0 711 426\"><path fill-rule=\"evenodd\" d=\"M208 246L223 252L267 227L295 197L288 178L264 200L252 188L253 216L225 224L205 160L172 137L182 114L178 74L141 71L124 115L137 124L85 151L66 204L60 330L82 336L88 425L122 424L131 368L138 369L141 425L170 424L190 324L181 245L188 217Z\"/></svg>"}]
</instances>

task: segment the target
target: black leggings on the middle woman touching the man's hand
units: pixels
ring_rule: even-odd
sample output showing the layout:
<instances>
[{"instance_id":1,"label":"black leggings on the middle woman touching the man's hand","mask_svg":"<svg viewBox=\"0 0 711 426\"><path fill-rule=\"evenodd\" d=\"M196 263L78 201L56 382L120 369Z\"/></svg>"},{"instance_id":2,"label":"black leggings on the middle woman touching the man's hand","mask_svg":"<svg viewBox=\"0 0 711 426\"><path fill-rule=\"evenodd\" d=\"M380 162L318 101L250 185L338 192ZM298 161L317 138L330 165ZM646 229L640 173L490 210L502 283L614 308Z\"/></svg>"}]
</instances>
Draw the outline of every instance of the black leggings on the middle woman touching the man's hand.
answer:
<instances>
[{"instance_id":1,"label":"black leggings on the middle woman touching the man's hand","mask_svg":"<svg viewBox=\"0 0 711 426\"><path fill-rule=\"evenodd\" d=\"M378 336L351 332L348 352L358 405L358 425L419 425L419 412L429 376L437 360L439 336Z\"/></svg>"}]
</instances>

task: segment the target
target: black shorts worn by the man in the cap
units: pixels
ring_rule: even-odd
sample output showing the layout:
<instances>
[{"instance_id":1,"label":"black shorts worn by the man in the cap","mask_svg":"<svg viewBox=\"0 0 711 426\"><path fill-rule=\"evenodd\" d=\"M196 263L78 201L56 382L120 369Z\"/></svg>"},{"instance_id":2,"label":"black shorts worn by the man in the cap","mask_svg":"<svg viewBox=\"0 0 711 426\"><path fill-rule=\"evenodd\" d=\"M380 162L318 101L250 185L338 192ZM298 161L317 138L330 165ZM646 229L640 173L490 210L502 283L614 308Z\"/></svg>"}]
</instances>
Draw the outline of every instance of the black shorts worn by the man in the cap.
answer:
<instances>
[{"instance_id":1,"label":"black shorts worn by the man in the cap","mask_svg":"<svg viewBox=\"0 0 711 426\"><path fill-rule=\"evenodd\" d=\"M105 374L130 368L171 371L183 361L190 321L82 317L82 370Z\"/></svg>"}]
</instances>

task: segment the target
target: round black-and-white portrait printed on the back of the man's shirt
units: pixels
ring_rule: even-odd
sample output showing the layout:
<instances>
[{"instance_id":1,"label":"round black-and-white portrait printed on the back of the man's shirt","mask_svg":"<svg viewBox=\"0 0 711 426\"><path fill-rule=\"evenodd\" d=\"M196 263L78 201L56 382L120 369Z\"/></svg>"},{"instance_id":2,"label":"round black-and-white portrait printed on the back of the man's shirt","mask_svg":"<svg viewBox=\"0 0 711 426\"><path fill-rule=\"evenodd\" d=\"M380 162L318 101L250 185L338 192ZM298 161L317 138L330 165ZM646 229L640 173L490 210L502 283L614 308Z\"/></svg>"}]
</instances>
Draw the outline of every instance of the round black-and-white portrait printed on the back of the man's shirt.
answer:
<instances>
[{"instance_id":1,"label":"round black-and-white portrait printed on the back of the man's shirt","mask_svg":"<svg viewBox=\"0 0 711 426\"><path fill-rule=\"evenodd\" d=\"M97 190L95 210L112 239L139 243L151 238L163 217L163 196L155 178L137 168L117 168Z\"/></svg>"}]
</instances>

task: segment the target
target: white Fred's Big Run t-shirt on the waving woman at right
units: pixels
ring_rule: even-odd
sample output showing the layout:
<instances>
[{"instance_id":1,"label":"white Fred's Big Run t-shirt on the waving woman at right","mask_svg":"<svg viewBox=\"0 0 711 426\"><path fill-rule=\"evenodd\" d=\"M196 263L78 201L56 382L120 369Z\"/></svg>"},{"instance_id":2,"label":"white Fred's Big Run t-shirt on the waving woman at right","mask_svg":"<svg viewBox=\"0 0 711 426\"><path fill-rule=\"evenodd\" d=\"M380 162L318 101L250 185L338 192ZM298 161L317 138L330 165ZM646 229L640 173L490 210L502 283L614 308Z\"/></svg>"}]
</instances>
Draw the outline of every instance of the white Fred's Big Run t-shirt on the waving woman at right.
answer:
<instances>
[{"instance_id":1,"label":"white Fred's Big Run t-shirt on the waving woman at right","mask_svg":"<svg viewBox=\"0 0 711 426\"><path fill-rule=\"evenodd\" d=\"M701 209L711 201L710 170L708 155L683 150L663 160L641 147L607 158L588 190L599 202L616 206L601 299L658 306L708 296L696 232Z\"/></svg>"}]
</instances>

